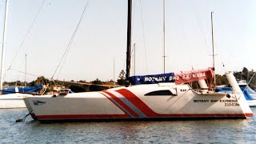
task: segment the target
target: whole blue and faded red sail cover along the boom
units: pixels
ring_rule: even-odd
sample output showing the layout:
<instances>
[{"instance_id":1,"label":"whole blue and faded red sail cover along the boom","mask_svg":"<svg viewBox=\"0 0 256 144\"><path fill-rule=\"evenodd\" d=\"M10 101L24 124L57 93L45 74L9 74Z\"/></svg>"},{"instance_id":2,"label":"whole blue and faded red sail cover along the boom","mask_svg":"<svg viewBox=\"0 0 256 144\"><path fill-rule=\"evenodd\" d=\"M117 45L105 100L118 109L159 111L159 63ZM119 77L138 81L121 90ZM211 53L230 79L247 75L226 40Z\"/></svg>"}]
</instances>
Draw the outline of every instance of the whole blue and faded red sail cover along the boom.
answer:
<instances>
[{"instance_id":1,"label":"whole blue and faded red sail cover along the boom","mask_svg":"<svg viewBox=\"0 0 256 144\"><path fill-rule=\"evenodd\" d=\"M130 77L132 85L154 84L159 82L175 82L182 84L186 82L194 82L200 79L214 78L214 68L210 67L204 70L180 71L178 73L137 75Z\"/></svg>"}]
</instances>

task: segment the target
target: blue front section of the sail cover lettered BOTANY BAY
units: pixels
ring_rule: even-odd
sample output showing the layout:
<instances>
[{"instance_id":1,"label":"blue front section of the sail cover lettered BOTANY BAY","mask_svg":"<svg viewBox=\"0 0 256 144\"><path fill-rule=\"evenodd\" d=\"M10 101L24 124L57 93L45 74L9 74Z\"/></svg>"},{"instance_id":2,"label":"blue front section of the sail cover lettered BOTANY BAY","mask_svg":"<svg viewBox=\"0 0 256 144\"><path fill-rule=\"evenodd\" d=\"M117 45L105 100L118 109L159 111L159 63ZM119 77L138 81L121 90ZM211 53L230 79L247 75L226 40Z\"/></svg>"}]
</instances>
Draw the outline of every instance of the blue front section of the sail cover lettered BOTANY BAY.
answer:
<instances>
[{"instance_id":1,"label":"blue front section of the sail cover lettered BOTANY BAY","mask_svg":"<svg viewBox=\"0 0 256 144\"><path fill-rule=\"evenodd\" d=\"M154 84L159 82L174 82L174 73L136 75L130 77L129 80L132 85Z\"/></svg>"}]
</instances>

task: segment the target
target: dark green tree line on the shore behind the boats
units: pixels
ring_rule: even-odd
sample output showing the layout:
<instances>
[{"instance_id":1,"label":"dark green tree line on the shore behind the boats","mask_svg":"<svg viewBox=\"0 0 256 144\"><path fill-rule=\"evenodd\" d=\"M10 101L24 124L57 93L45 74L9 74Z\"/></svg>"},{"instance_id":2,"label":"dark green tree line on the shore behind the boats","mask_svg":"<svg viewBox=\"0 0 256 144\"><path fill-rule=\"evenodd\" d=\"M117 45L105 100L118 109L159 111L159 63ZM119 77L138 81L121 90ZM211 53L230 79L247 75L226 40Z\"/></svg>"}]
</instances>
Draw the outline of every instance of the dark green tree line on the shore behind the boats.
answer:
<instances>
[{"instance_id":1,"label":"dark green tree line on the shore behind the boats","mask_svg":"<svg viewBox=\"0 0 256 144\"><path fill-rule=\"evenodd\" d=\"M242 71L234 71L234 77L237 80L246 80L249 86L256 90L256 76L254 70L248 70L246 67L243 67ZM216 86L227 85L229 84L226 78L226 75L216 74ZM210 82L210 80L208 80ZM27 86L38 86L38 85L48 85L46 90L50 91L54 86L65 86L66 88L71 89L74 92L88 92L88 91L100 91L106 90L114 86L124 86L126 83L126 72L122 70L118 76L116 82L113 80L103 82L96 78L94 81L86 82L84 80L80 80L78 82L70 81L70 82L62 82L62 81L50 81L45 77L38 77L32 82L27 82ZM8 84L9 86L24 86L24 82L4 82L4 84ZM197 89L199 88L198 82L189 83L190 86Z\"/></svg>"}]
</instances>

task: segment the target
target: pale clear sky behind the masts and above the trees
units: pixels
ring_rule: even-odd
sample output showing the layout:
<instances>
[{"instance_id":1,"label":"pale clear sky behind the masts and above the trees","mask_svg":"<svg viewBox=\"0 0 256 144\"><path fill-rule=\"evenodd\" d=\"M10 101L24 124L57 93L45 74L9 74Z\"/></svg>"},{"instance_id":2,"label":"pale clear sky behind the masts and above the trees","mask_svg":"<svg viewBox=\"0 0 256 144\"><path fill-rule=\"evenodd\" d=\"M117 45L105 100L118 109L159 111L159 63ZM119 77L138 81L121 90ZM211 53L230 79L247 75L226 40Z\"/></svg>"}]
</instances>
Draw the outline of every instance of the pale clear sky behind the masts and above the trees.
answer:
<instances>
[{"instance_id":1,"label":"pale clear sky behind the masts and above the trees","mask_svg":"<svg viewBox=\"0 0 256 144\"><path fill-rule=\"evenodd\" d=\"M25 71L27 82L38 76L117 80L126 70L127 0L90 0L86 6L87 1L9 0L4 81L24 81ZM2 42L5 2L0 2ZM166 72L213 66L212 11L216 73L256 70L256 1L166 0ZM163 1L134 0L132 15L131 74L162 74Z\"/></svg>"}]
</instances>

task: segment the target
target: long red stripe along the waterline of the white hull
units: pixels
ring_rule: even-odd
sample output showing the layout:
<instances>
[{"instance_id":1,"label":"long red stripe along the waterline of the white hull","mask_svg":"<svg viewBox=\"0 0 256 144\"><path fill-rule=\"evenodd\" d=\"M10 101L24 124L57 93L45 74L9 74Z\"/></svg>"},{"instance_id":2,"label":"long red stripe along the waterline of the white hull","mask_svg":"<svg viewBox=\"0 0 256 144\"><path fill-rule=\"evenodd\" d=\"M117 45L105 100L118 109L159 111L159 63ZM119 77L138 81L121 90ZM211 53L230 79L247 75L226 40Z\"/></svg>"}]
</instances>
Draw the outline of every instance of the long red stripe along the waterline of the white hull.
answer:
<instances>
[{"instance_id":1,"label":"long red stripe along the waterline of the white hull","mask_svg":"<svg viewBox=\"0 0 256 144\"><path fill-rule=\"evenodd\" d=\"M167 116L168 115L168 116ZM150 119L150 118L130 118L128 114L84 114L84 115L39 115L38 120L65 120L65 119ZM152 117L153 118L153 117ZM245 118L244 114L166 114L162 117L154 118Z\"/></svg>"}]
</instances>

